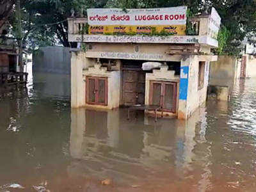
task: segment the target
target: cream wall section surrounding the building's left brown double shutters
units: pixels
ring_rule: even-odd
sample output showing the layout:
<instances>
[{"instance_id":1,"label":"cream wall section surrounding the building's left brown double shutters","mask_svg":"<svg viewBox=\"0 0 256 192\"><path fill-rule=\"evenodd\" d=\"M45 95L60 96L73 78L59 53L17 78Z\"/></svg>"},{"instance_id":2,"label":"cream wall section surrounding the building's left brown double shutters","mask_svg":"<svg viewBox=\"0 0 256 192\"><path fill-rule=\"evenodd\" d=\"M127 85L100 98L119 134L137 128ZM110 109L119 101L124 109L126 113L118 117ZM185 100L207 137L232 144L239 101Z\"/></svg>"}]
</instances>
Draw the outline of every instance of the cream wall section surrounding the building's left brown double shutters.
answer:
<instances>
[{"instance_id":1,"label":"cream wall section surrounding the building's left brown double shutters","mask_svg":"<svg viewBox=\"0 0 256 192\"><path fill-rule=\"evenodd\" d=\"M101 109L118 108L120 104L120 71L108 72L86 58L85 52L72 52L71 57L71 107L92 107ZM86 104L86 76L108 77L108 106Z\"/></svg>"}]
</instances>

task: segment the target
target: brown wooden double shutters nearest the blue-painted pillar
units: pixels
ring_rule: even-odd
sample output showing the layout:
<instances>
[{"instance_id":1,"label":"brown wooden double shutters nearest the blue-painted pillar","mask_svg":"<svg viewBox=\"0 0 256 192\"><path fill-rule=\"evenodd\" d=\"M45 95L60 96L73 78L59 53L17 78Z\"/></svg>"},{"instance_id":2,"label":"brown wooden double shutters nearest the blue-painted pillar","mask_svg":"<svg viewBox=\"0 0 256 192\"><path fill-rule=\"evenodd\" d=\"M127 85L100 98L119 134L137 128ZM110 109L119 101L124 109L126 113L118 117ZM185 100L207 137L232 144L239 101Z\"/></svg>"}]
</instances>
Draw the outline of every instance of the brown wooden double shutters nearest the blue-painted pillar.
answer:
<instances>
[{"instance_id":1,"label":"brown wooden double shutters nearest the blue-painted pillar","mask_svg":"<svg viewBox=\"0 0 256 192\"><path fill-rule=\"evenodd\" d=\"M176 113L177 83L150 81L149 104L161 106L163 111Z\"/></svg>"}]
</instances>

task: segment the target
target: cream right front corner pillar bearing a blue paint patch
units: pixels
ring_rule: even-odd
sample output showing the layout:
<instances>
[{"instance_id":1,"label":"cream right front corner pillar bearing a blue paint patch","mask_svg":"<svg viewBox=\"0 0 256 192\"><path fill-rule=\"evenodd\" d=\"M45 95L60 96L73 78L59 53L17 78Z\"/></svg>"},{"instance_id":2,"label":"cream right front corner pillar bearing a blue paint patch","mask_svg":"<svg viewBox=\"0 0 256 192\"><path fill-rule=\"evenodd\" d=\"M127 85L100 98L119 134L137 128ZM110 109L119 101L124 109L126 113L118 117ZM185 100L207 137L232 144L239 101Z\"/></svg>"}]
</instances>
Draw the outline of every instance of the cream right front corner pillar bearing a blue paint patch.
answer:
<instances>
[{"instance_id":1,"label":"cream right front corner pillar bearing a blue paint patch","mask_svg":"<svg viewBox=\"0 0 256 192\"><path fill-rule=\"evenodd\" d=\"M180 87L179 87L179 108L178 118L186 120L188 118L188 77L189 77L189 57L183 58L180 62Z\"/></svg>"}]
</instances>

